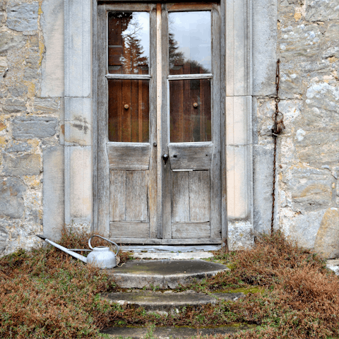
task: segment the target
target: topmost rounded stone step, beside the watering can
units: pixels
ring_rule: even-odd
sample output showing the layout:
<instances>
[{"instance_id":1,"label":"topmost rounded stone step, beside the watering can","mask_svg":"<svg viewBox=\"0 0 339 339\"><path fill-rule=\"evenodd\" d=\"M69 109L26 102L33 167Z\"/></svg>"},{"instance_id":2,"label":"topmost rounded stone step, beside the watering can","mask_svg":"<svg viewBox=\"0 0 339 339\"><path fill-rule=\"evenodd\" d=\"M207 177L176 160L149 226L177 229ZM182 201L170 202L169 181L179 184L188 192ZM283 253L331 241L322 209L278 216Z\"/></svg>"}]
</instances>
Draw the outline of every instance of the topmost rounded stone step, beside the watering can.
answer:
<instances>
[{"instance_id":1,"label":"topmost rounded stone step, beside the watering can","mask_svg":"<svg viewBox=\"0 0 339 339\"><path fill-rule=\"evenodd\" d=\"M229 270L221 263L194 260L131 260L107 273L123 288L156 287L166 290L188 285Z\"/></svg>"}]
</instances>

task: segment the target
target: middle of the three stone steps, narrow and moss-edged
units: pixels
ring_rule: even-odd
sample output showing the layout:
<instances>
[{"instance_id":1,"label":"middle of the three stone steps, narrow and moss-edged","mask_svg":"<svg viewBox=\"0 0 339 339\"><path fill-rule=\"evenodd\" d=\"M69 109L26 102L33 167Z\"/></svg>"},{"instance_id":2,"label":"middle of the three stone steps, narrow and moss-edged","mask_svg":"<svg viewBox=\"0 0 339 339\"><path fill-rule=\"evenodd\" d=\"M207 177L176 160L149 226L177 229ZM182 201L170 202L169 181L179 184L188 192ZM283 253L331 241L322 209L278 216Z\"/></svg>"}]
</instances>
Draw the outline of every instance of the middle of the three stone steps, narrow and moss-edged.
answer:
<instances>
[{"instance_id":1,"label":"middle of the three stone steps, narrow and moss-edged","mask_svg":"<svg viewBox=\"0 0 339 339\"><path fill-rule=\"evenodd\" d=\"M132 290L131 292L102 294L102 298L109 302L137 305L159 314L178 313L180 308L186 306L215 305L219 300L235 301L244 297L244 293L210 293L206 295L194 291L173 292L171 290L165 292Z\"/></svg>"}]
</instances>

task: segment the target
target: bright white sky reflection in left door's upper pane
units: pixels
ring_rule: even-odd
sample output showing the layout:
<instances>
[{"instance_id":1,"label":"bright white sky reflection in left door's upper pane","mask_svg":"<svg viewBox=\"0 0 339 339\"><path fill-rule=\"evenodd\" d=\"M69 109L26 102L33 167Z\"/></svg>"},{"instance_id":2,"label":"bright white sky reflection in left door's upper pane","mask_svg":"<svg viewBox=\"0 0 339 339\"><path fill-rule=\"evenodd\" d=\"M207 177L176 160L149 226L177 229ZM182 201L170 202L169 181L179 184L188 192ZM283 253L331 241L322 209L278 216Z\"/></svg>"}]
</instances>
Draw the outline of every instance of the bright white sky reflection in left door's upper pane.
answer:
<instances>
[{"instance_id":1,"label":"bright white sky reflection in left door's upper pane","mask_svg":"<svg viewBox=\"0 0 339 339\"><path fill-rule=\"evenodd\" d=\"M136 28L137 27L137 28ZM122 36L130 35L135 30L136 37L141 40L141 46L143 47L142 57L148 57L150 60L150 14L148 12L133 12L133 19L130 21L128 27Z\"/></svg>"}]
</instances>

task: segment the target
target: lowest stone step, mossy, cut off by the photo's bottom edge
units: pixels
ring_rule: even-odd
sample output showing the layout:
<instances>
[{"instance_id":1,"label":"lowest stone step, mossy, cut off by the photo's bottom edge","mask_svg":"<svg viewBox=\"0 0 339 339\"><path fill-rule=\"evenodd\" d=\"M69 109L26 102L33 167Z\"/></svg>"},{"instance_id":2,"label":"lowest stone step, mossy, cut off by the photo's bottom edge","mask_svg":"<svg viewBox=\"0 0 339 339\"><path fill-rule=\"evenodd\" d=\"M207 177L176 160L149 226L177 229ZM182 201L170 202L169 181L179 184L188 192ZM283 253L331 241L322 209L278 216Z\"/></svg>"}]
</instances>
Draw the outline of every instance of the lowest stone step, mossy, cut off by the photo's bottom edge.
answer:
<instances>
[{"instance_id":1,"label":"lowest stone step, mossy, cut off by the photo's bottom edge","mask_svg":"<svg viewBox=\"0 0 339 339\"><path fill-rule=\"evenodd\" d=\"M254 326L222 326L217 328L177 328L177 327L111 327L105 328L101 333L106 333L109 338L194 338L196 335L230 334L248 330Z\"/></svg>"}]
</instances>

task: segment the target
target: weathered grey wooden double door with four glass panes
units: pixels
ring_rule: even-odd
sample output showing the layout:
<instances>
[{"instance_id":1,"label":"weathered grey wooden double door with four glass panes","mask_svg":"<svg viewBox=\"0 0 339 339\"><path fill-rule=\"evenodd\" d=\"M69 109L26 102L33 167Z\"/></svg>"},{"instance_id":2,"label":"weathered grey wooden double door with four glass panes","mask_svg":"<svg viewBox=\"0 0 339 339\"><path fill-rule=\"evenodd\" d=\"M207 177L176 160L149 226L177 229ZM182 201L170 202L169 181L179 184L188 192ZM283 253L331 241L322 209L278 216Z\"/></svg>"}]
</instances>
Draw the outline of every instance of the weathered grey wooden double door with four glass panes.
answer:
<instances>
[{"instance_id":1,"label":"weathered grey wooden double door with four glass panes","mask_svg":"<svg viewBox=\"0 0 339 339\"><path fill-rule=\"evenodd\" d=\"M98 6L97 228L221 242L217 4Z\"/></svg>"}]
</instances>

